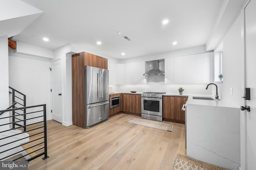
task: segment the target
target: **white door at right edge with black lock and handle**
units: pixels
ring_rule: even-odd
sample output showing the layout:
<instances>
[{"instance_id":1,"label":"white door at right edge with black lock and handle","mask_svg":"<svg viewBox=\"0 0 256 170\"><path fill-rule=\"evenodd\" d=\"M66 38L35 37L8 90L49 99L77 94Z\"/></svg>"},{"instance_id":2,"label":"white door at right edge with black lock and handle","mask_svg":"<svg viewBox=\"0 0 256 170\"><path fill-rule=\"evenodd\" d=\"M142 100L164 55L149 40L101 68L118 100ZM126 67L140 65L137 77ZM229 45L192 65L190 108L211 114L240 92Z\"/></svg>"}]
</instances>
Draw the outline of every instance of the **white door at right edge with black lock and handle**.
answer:
<instances>
[{"instance_id":1,"label":"white door at right edge with black lock and handle","mask_svg":"<svg viewBox=\"0 0 256 170\"><path fill-rule=\"evenodd\" d=\"M246 38L246 87L250 88L250 100L246 105L246 157L247 170L256 169L256 0L251 0L245 8L245 38ZM246 161L246 159L245 159Z\"/></svg>"}]
</instances>

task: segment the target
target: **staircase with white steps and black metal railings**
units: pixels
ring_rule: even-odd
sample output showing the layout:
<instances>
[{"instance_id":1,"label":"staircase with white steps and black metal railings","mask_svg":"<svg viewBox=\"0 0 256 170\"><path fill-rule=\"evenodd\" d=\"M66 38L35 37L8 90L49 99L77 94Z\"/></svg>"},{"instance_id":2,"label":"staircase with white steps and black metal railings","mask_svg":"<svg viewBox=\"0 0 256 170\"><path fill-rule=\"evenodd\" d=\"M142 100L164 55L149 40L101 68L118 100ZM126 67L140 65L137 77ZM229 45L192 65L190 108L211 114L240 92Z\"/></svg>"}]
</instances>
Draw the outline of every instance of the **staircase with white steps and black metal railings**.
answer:
<instances>
[{"instance_id":1,"label":"staircase with white steps and black metal railings","mask_svg":"<svg viewBox=\"0 0 256 170\"><path fill-rule=\"evenodd\" d=\"M4 122L0 123L0 161L48 158L46 104L27 107L26 95L9 89L12 105L0 110L0 122Z\"/></svg>"}]
</instances>

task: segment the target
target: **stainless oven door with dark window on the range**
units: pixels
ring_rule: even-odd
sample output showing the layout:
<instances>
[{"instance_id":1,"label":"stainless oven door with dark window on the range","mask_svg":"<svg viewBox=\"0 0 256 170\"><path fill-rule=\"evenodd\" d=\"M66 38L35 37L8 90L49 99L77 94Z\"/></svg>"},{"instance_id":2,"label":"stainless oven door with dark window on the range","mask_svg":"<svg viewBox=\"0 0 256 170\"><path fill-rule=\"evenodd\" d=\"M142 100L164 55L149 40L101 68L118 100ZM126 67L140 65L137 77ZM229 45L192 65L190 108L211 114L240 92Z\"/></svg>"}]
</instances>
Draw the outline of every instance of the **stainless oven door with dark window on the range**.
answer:
<instances>
[{"instance_id":1,"label":"stainless oven door with dark window on the range","mask_svg":"<svg viewBox=\"0 0 256 170\"><path fill-rule=\"evenodd\" d=\"M141 112L162 116L162 98L141 98Z\"/></svg>"}]
</instances>

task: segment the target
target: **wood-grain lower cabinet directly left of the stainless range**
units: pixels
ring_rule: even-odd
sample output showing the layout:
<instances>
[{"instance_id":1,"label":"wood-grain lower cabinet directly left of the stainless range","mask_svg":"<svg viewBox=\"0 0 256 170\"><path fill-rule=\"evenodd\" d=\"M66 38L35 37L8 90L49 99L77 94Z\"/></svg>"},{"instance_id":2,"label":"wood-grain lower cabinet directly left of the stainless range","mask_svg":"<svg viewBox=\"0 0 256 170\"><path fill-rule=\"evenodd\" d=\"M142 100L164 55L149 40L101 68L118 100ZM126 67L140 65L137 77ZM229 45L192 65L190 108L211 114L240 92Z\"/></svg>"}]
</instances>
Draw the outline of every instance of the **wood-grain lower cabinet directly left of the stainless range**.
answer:
<instances>
[{"instance_id":1,"label":"wood-grain lower cabinet directly left of the stainless range","mask_svg":"<svg viewBox=\"0 0 256 170\"><path fill-rule=\"evenodd\" d=\"M141 114L141 95L123 94L122 111Z\"/></svg>"}]
</instances>

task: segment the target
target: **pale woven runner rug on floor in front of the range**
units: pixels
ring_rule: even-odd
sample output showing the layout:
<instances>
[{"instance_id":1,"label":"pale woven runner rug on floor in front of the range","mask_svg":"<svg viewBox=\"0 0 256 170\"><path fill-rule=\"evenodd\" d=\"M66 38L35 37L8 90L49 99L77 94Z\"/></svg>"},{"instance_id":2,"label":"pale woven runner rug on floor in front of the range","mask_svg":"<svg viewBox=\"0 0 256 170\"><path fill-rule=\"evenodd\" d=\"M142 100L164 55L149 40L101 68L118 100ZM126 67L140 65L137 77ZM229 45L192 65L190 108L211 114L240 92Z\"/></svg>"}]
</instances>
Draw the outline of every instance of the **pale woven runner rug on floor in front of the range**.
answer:
<instances>
[{"instance_id":1,"label":"pale woven runner rug on floor in front of the range","mask_svg":"<svg viewBox=\"0 0 256 170\"><path fill-rule=\"evenodd\" d=\"M168 123L162 123L160 121L140 119L140 118L135 118L135 117L128 119L126 122L133 123L136 125L142 125L142 126L146 126L146 127L152 127L152 128L160 129L160 130L164 130L164 131L172 132L172 129L173 129L173 125L170 125Z\"/></svg>"}]
</instances>

